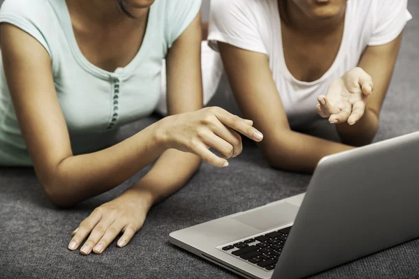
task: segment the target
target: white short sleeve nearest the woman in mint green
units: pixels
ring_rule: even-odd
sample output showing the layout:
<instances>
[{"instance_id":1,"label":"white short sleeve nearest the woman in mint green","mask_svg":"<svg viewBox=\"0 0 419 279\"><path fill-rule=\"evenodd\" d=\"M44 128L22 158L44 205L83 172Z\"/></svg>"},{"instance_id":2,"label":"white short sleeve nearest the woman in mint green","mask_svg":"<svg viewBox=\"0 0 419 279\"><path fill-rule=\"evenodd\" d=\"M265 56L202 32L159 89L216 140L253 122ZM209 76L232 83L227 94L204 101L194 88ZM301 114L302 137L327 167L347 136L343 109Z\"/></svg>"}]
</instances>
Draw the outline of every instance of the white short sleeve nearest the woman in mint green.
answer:
<instances>
[{"instance_id":1,"label":"white short sleeve nearest the woman in mint green","mask_svg":"<svg viewBox=\"0 0 419 279\"><path fill-rule=\"evenodd\" d=\"M208 44L218 51L218 42L227 43L243 50L267 54L263 43L253 1L212 0L210 34Z\"/></svg>"}]
</instances>

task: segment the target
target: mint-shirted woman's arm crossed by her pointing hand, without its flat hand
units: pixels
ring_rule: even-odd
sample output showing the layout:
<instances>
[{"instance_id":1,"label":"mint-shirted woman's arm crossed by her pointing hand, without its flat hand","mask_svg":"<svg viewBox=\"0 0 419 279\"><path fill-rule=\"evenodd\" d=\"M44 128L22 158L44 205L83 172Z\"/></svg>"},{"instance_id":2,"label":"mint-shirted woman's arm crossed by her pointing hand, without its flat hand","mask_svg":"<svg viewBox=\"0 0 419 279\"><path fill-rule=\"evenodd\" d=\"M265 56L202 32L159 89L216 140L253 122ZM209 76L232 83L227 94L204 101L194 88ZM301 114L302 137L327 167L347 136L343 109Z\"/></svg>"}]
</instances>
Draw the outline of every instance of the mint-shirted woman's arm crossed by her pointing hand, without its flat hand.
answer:
<instances>
[{"instance_id":1,"label":"mint-shirted woman's arm crossed by her pointing hand, without its flat hand","mask_svg":"<svg viewBox=\"0 0 419 279\"><path fill-rule=\"evenodd\" d=\"M176 40L166 59L168 79L168 113L180 114L203 107L200 70L201 43L200 14ZM148 190L153 201L184 186L198 170L200 158L175 149L165 151L152 169L135 183L133 189Z\"/></svg>"}]
</instances>

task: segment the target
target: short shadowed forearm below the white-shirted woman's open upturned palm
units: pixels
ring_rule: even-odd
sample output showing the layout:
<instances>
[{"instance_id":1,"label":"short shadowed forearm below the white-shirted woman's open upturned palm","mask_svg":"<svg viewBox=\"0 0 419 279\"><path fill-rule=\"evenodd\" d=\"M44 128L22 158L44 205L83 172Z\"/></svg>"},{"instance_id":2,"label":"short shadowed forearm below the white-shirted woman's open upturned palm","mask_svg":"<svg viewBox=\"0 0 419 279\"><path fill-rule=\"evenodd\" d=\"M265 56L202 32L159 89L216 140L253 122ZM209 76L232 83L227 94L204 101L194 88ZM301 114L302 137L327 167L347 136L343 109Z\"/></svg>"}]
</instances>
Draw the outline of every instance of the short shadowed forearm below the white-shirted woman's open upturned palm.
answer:
<instances>
[{"instance_id":1,"label":"short shadowed forearm below the white-shirted woman's open upturned palm","mask_svg":"<svg viewBox=\"0 0 419 279\"><path fill-rule=\"evenodd\" d=\"M353 126L348 123L337 124L336 130L344 144L364 146L374 140L378 130L378 116L367 107L360 121Z\"/></svg>"}]
</instances>

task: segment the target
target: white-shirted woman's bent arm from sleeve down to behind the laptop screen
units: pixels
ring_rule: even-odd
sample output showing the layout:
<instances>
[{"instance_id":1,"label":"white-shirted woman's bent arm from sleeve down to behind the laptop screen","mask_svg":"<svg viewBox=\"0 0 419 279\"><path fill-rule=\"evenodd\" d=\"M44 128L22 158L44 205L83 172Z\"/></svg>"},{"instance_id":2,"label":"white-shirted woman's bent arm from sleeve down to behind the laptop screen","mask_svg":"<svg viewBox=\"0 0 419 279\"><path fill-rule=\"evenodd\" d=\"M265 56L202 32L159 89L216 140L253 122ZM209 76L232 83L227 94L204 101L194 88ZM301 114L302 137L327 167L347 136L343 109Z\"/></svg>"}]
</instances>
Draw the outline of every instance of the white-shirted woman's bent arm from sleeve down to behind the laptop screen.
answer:
<instances>
[{"instance_id":1,"label":"white-shirted woman's bent arm from sleeve down to behind the laptop screen","mask_svg":"<svg viewBox=\"0 0 419 279\"><path fill-rule=\"evenodd\" d=\"M263 133L260 147L273 167L312 172L324 156L352 148L291 130L265 54L225 43L219 49L240 110Z\"/></svg>"}]
</instances>

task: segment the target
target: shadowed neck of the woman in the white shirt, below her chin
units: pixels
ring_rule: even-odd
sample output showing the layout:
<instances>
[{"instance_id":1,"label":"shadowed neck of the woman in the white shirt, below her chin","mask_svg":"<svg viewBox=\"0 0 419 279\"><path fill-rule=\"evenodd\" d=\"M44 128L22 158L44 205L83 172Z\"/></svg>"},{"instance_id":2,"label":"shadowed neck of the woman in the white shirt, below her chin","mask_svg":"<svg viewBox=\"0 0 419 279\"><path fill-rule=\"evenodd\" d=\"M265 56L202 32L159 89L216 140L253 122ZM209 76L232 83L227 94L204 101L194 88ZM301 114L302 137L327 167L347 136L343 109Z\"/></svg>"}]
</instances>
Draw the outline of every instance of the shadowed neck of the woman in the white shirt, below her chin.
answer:
<instances>
[{"instance_id":1,"label":"shadowed neck of the woman in the white shirt, below her chin","mask_svg":"<svg viewBox=\"0 0 419 279\"><path fill-rule=\"evenodd\" d=\"M286 10L283 12L288 15L289 25L299 33L310 36L324 36L337 31L344 24L346 8L342 9L341 13L334 17L314 19L307 16L293 0L284 1L287 1L287 5Z\"/></svg>"}]
</instances>

